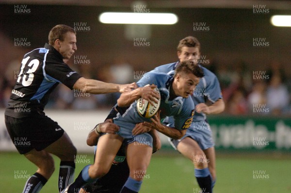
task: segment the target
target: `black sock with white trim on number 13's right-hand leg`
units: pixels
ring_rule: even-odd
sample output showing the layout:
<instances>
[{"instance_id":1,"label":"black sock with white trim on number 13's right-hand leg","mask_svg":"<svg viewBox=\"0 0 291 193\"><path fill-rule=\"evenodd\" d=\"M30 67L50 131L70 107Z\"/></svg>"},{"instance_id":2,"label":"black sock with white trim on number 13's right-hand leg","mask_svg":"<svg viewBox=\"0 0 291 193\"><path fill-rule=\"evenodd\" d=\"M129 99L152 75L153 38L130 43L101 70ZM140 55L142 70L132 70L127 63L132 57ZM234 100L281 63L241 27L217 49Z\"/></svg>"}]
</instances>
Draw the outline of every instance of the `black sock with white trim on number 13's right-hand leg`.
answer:
<instances>
[{"instance_id":1,"label":"black sock with white trim on number 13's right-hand leg","mask_svg":"<svg viewBox=\"0 0 291 193\"><path fill-rule=\"evenodd\" d=\"M62 192L65 187L74 181L75 162L61 161L59 173L59 191Z\"/></svg>"}]
</instances>

